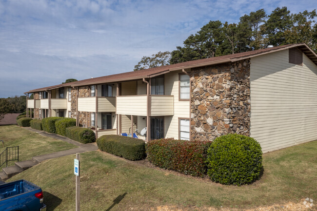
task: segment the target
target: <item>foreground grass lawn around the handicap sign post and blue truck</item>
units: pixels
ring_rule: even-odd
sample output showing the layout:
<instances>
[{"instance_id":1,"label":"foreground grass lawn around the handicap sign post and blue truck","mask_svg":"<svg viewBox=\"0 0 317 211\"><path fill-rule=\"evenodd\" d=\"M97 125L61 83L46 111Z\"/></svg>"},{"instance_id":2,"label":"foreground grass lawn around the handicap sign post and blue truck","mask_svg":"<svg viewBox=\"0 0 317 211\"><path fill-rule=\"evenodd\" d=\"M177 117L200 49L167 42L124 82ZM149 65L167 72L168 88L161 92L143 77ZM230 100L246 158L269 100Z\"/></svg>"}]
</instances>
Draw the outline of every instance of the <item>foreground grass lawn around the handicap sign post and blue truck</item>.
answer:
<instances>
[{"instance_id":1,"label":"foreground grass lawn around the handicap sign post and blue truck","mask_svg":"<svg viewBox=\"0 0 317 211\"><path fill-rule=\"evenodd\" d=\"M103 152L80 155L80 208L84 211L148 211L159 206L207 210L256 208L317 200L317 141L263 154L264 173L251 185L224 186L135 164ZM44 191L47 211L75 210L75 155L45 161L9 181L26 179ZM315 205L316 206L316 205ZM316 208L316 207L315 207Z\"/></svg>"}]
</instances>

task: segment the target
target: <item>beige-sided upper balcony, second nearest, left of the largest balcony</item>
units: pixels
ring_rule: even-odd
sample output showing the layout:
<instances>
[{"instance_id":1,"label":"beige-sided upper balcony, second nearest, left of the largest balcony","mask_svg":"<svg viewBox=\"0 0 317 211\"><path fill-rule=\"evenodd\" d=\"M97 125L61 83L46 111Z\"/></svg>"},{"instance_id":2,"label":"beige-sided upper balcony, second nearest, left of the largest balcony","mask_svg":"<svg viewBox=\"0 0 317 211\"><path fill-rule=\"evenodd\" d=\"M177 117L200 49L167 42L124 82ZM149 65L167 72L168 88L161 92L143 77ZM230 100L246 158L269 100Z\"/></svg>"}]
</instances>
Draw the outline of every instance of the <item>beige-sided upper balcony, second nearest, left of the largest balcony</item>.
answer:
<instances>
[{"instance_id":1,"label":"beige-sided upper balcony, second nearest, left of the largest balcony","mask_svg":"<svg viewBox=\"0 0 317 211\"><path fill-rule=\"evenodd\" d=\"M116 112L116 97L79 97L79 112Z\"/></svg>"}]
</instances>

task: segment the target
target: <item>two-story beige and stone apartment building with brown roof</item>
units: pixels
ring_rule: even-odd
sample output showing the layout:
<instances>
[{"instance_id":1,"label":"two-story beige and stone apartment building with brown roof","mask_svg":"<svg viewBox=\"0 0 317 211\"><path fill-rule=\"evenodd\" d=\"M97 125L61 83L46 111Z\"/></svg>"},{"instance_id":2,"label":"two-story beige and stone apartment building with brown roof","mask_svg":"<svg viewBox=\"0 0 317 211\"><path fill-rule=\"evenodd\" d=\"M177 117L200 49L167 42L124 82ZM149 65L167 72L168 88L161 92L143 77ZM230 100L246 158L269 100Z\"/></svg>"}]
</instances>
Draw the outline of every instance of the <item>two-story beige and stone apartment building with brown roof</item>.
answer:
<instances>
[{"instance_id":1,"label":"two-story beige and stone apartment building with brown roof","mask_svg":"<svg viewBox=\"0 0 317 211\"><path fill-rule=\"evenodd\" d=\"M44 87L35 118L77 119L97 137L258 140L263 153L317 139L317 55L305 43L199 59Z\"/></svg>"}]
</instances>

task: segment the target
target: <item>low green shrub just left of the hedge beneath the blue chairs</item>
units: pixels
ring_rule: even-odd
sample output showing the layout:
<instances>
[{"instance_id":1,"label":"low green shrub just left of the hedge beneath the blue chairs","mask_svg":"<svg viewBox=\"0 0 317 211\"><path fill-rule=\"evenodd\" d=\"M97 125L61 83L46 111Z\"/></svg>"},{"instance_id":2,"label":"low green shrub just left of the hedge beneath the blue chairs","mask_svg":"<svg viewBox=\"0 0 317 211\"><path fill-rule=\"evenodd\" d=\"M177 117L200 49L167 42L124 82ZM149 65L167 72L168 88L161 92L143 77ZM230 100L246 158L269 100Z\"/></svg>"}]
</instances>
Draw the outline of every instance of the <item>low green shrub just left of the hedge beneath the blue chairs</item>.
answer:
<instances>
[{"instance_id":1,"label":"low green shrub just left of the hedge beneath the blue chairs","mask_svg":"<svg viewBox=\"0 0 317 211\"><path fill-rule=\"evenodd\" d=\"M78 141L83 144L92 143L96 141L95 133L88 129L82 127L68 127L65 130L66 137Z\"/></svg>"}]
</instances>

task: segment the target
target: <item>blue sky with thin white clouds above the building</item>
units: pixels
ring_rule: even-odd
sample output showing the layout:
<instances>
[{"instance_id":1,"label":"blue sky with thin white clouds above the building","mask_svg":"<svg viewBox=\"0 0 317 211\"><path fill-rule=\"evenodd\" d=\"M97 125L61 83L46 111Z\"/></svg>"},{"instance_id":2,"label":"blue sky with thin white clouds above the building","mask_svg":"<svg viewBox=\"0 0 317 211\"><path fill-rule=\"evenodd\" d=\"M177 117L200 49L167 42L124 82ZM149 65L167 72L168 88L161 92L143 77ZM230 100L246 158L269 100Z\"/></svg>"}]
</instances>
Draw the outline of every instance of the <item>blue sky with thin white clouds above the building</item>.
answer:
<instances>
[{"instance_id":1,"label":"blue sky with thin white clouds above the building","mask_svg":"<svg viewBox=\"0 0 317 211\"><path fill-rule=\"evenodd\" d=\"M0 0L0 97L133 71L172 51L209 20L238 22L264 8L291 13L316 0ZM313 6L313 7L312 7Z\"/></svg>"}]
</instances>

